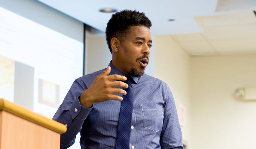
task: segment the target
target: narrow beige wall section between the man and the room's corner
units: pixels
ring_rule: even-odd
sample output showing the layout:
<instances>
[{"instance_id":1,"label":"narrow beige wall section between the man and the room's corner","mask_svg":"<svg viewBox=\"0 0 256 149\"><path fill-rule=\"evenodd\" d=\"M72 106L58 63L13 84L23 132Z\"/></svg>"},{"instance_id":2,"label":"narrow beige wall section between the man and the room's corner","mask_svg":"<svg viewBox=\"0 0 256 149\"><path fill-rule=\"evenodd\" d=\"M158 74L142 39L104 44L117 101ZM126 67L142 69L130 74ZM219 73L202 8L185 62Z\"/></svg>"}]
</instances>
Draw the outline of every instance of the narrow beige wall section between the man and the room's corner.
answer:
<instances>
[{"instance_id":1,"label":"narrow beige wall section between the man and the room's corner","mask_svg":"<svg viewBox=\"0 0 256 149\"><path fill-rule=\"evenodd\" d=\"M185 107L183 140L190 140L190 56L168 36L155 36L154 77L166 82L174 96L176 107Z\"/></svg>"}]
</instances>

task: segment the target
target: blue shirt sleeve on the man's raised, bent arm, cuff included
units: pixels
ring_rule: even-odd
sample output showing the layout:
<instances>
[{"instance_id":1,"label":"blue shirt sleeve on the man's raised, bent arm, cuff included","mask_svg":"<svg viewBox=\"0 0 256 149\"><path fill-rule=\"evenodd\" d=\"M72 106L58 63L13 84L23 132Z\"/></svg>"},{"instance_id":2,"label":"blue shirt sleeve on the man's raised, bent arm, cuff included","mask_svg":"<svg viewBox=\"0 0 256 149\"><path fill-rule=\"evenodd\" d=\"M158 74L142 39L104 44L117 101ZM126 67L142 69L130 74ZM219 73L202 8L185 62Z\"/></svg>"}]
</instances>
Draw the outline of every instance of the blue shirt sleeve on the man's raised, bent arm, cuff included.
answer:
<instances>
[{"instance_id":1,"label":"blue shirt sleeve on the man's raised, bent arm, cuff included","mask_svg":"<svg viewBox=\"0 0 256 149\"><path fill-rule=\"evenodd\" d=\"M84 83L76 79L53 116L53 120L67 127L67 131L61 134L60 137L61 149L68 148L74 144L77 133L81 130L84 120L92 109L92 107L86 108L82 106L78 99L86 89Z\"/></svg>"}]
</instances>

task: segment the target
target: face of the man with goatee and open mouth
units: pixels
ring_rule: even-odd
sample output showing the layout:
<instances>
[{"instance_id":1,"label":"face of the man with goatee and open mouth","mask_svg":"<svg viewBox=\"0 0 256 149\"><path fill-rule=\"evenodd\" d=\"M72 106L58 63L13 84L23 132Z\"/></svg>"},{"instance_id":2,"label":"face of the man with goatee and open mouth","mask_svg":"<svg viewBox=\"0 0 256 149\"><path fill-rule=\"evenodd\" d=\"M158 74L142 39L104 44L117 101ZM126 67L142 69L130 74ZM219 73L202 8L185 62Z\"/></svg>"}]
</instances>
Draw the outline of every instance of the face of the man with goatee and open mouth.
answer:
<instances>
[{"instance_id":1,"label":"face of the man with goatee and open mouth","mask_svg":"<svg viewBox=\"0 0 256 149\"><path fill-rule=\"evenodd\" d=\"M148 64L151 45L149 28L132 26L115 52L115 66L126 75L140 77Z\"/></svg>"}]
</instances>

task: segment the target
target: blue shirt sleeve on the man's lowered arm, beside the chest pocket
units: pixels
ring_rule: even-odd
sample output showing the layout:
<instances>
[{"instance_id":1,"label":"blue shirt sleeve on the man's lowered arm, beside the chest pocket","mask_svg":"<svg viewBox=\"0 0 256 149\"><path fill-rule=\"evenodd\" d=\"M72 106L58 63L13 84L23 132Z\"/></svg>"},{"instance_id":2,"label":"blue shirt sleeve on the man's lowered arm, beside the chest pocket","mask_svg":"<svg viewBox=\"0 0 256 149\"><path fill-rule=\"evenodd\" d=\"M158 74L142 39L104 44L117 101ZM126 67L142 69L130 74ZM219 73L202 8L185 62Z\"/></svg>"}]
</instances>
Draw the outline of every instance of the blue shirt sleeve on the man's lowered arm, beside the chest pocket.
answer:
<instances>
[{"instance_id":1,"label":"blue shirt sleeve on the man's lowered arm, beside the chest pocket","mask_svg":"<svg viewBox=\"0 0 256 149\"><path fill-rule=\"evenodd\" d=\"M182 133L172 92L166 85L164 121L160 137L162 149L183 149Z\"/></svg>"}]
</instances>

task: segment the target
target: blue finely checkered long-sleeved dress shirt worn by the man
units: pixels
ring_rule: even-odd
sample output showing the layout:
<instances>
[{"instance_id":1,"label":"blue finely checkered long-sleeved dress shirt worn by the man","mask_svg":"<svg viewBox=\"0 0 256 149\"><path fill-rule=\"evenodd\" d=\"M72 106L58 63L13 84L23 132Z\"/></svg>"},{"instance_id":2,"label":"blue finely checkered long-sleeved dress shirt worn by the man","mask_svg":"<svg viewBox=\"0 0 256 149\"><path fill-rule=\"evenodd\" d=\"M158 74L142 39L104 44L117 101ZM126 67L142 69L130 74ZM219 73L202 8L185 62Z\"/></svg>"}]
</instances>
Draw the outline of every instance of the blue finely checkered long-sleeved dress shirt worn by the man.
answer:
<instances>
[{"instance_id":1,"label":"blue finely checkered long-sleeved dress shirt worn by the man","mask_svg":"<svg viewBox=\"0 0 256 149\"><path fill-rule=\"evenodd\" d=\"M111 62L109 66L110 75L124 75ZM109 100L86 108L78 100L104 70L76 79L55 113L53 119L67 126L67 132L61 135L61 149L74 144L78 132L82 149L115 148L121 102ZM168 85L147 74L132 77L131 85L135 99L130 148L183 149L176 106Z\"/></svg>"}]
</instances>

